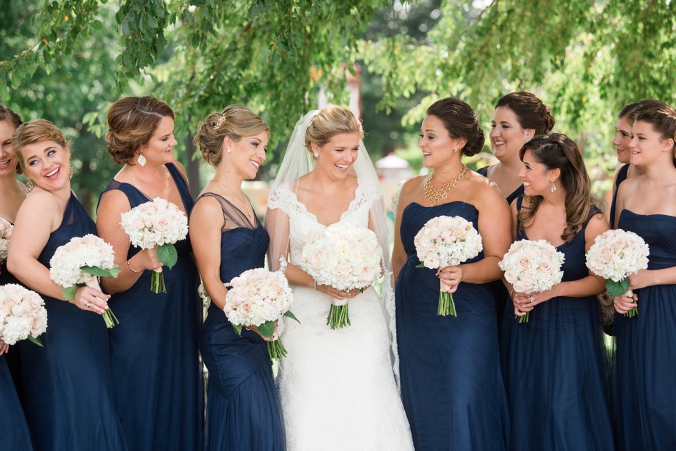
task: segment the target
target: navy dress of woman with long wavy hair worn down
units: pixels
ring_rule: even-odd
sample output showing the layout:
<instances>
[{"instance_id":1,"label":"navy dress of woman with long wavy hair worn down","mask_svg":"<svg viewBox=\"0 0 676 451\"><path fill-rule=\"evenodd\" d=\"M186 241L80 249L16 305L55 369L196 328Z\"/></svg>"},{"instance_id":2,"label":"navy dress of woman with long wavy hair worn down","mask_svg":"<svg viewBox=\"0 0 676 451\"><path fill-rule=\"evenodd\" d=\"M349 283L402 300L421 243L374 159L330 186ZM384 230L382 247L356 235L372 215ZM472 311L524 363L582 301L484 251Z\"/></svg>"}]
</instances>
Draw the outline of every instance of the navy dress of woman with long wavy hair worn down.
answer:
<instances>
[{"instance_id":1,"label":"navy dress of woman with long wavy hair worn down","mask_svg":"<svg viewBox=\"0 0 676 451\"><path fill-rule=\"evenodd\" d=\"M594 208L590 218L598 213ZM566 257L562 281L588 275L587 222L557 248ZM520 239L528 239L523 229ZM602 325L595 296L555 297L536 305L527 323L505 309L500 345L512 450L614 449Z\"/></svg>"}]
</instances>

